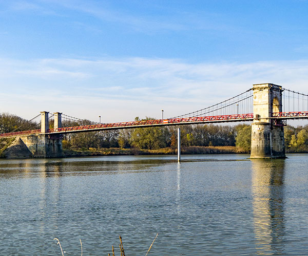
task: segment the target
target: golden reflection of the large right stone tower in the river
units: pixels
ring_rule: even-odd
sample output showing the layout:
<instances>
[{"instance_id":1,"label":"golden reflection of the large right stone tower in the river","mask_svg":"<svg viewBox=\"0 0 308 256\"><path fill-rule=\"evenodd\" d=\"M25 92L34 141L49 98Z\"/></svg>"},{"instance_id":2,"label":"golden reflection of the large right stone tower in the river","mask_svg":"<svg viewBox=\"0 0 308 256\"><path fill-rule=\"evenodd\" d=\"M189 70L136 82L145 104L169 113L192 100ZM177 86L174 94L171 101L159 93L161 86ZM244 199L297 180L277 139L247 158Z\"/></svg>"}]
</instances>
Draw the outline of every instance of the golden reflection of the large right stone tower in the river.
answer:
<instances>
[{"instance_id":1,"label":"golden reflection of the large right stone tower in the river","mask_svg":"<svg viewBox=\"0 0 308 256\"><path fill-rule=\"evenodd\" d=\"M283 252L284 160L252 160L254 232L257 254Z\"/></svg>"}]
</instances>

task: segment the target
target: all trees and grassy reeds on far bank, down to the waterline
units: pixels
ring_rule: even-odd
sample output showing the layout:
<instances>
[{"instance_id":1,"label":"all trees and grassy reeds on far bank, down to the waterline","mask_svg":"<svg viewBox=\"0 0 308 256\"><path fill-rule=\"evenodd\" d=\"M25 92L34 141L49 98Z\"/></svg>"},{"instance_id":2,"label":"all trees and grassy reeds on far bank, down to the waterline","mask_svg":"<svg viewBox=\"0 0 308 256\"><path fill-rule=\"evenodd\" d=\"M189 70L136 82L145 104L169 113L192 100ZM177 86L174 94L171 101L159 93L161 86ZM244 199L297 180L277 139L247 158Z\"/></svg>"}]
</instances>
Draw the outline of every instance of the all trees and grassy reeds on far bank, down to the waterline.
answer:
<instances>
[{"instance_id":1,"label":"all trees and grassy reeds on far bank, down to the waterline","mask_svg":"<svg viewBox=\"0 0 308 256\"><path fill-rule=\"evenodd\" d=\"M149 120L153 118L146 117ZM135 120L140 120L136 117ZM63 127L90 124L63 120ZM50 120L50 127L53 120ZM249 153L251 125L194 124L181 125L182 154ZM0 133L39 129L40 123L0 113ZM284 127L287 153L308 153L308 125ZM11 141L0 141L1 152ZM146 127L66 134L63 137L66 156L157 155L177 153L177 126ZM0 154L1 154L0 152Z\"/></svg>"}]
</instances>

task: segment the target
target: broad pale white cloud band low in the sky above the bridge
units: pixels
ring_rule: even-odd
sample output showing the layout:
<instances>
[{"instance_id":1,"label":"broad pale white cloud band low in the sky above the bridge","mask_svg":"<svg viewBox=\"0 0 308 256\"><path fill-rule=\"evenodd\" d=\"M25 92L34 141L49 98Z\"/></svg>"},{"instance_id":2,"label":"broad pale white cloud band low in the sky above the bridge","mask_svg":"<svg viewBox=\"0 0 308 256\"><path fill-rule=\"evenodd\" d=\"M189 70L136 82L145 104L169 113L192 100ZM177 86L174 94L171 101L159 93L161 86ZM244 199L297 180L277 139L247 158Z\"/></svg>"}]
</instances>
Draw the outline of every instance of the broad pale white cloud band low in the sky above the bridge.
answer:
<instances>
[{"instance_id":1,"label":"broad pale white cloud band low in the sky above the bridge","mask_svg":"<svg viewBox=\"0 0 308 256\"><path fill-rule=\"evenodd\" d=\"M0 59L1 112L42 110L115 122L171 117L272 82L307 92L308 60L187 63L179 59Z\"/></svg>"}]
</instances>

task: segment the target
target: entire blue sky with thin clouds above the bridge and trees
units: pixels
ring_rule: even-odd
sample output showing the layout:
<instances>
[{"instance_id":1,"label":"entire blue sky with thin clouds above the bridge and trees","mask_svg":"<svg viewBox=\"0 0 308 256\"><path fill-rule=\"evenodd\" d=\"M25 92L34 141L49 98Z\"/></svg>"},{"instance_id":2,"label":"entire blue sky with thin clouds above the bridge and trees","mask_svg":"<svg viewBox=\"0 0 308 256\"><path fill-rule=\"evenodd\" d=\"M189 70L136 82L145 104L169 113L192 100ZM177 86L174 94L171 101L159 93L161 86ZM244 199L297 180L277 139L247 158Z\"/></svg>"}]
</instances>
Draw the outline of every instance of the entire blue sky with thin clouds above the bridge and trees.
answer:
<instances>
[{"instance_id":1,"label":"entire blue sky with thin clouds above the bridge and trees","mask_svg":"<svg viewBox=\"0 0 308 256\"><path fill-rule=\"evenodd\" d=\"M308 93L308 1L0 1L0 112L104 122Z\"/></svg>"}]
</instances>

